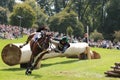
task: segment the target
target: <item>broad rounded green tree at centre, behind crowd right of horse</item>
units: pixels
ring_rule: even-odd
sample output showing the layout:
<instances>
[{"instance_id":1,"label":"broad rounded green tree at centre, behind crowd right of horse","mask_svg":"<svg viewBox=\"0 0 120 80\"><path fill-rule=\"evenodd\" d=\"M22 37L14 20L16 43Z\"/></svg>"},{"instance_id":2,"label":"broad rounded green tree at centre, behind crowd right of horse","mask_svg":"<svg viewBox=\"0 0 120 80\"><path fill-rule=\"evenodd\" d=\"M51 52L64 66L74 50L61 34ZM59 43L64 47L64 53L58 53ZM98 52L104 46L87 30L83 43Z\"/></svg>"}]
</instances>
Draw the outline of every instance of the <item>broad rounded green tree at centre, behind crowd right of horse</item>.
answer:
<instances>
[{"instance_id":1,"label":"broad rounded green tree at centre, behind crowd right of horse","mask_svg":"<svg viewBox=\"0 0 120 80\"><path fill-rule=\"evenodd\" d=\"M59 31L60 33L65 33L68 26L71 26L73 29L73 34L75 34L76 29L79 30L79 35L83 31L83 25L77 19L77 15L74 11L69 13L62 11L59 14L56 14L49 19L50 28L53 31Z\"/></svg>"}]
</instances>

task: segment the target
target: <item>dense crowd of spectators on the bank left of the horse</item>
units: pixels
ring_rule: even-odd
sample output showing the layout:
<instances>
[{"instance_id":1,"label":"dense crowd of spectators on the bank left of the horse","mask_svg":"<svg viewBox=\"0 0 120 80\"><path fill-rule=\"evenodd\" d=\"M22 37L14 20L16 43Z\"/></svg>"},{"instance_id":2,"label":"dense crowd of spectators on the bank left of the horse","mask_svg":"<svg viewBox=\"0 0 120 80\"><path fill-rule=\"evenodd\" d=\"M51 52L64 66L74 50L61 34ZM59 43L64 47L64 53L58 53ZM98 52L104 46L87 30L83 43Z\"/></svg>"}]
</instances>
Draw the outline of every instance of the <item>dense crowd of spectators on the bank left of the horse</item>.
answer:
<instances>
[{"instance_id":1,"label":"dense crowd of spectators on the bank left of the horse","mask_svg":"<svg viewBox=\"0 0 120 80\"><path fill-rule=\"evenodd\" d=\"M14 39L22 37L23 34L30 34L32 29L22 28L19 26L0 25L0 38Z\"/></svg>"}]
</instances>

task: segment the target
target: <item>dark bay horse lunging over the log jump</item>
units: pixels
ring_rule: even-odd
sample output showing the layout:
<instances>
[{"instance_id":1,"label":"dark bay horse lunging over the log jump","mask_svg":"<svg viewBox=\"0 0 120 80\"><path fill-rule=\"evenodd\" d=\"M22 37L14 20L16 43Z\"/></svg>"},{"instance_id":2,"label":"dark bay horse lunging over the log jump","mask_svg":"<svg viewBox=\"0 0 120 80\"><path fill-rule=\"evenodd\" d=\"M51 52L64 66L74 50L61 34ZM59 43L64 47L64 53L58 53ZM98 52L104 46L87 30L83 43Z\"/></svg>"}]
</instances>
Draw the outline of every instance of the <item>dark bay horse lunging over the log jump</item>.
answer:
<instances>
[{"instance_id":1,"label":"dark bay horse lunging over the log jump","mask_svg":"<svg viewBox=\"0 0 120 80\"><path fill-rule=\"evenodd\" d=\"M37 41L34 41L33 37L35 34L36 33L29 35L26 43L19 46L20 48L22 48L30 42L30 49L32 51L32 54L28 63L27 70L25 72L26 75L31 74L32 70L36 67L36 65L42 59L42 57L49 52L48 47L51 36L53 35L51 32L46 32L40 38L38 38Z\"/></svg>"}]
</instances>

